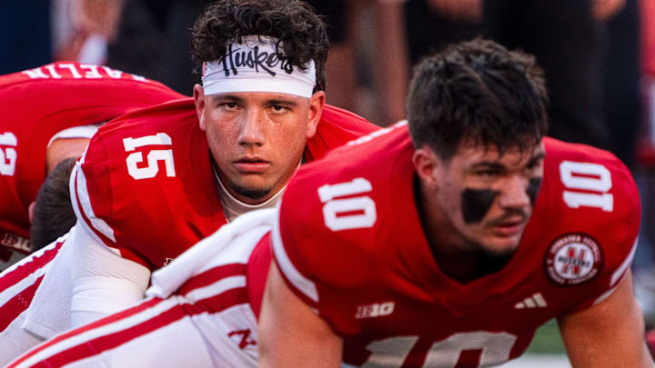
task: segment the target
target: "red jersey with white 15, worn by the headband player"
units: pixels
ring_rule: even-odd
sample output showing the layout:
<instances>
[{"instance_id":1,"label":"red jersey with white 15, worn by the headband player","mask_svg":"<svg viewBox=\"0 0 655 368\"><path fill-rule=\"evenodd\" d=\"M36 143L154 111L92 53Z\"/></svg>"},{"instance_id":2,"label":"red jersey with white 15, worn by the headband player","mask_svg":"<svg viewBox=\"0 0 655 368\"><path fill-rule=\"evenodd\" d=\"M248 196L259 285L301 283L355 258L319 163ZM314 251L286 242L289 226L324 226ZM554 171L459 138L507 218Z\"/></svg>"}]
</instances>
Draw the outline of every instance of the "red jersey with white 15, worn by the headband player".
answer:
<instances>
[{"instance_id":1,"label":"red jersey with white 15, worn by the headband player","mask_svg":"<svg viewBox=\"0 0 655 368\"><path fill-rule=\"evenodd\" d=\"M378 129L326 106L306 160ZM78 220L151 270L214 233L226 217L193 100L126 114L101 127L77 164Z\"/></svg>"}]
</instances>

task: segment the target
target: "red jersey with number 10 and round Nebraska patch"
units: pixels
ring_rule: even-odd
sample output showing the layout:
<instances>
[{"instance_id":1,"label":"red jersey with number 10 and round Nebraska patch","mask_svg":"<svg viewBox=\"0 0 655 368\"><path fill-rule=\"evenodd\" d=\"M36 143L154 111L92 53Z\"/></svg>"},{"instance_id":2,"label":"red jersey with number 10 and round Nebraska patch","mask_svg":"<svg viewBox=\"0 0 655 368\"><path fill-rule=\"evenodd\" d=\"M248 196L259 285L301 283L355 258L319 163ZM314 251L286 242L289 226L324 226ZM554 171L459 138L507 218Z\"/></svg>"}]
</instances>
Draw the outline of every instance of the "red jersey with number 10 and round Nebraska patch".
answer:
<instances>
[{"instance_id":1,"label":"red jersey with number 10 and round Nebraska patch","mask_svg":"<svg viewBox=\"0 0 655 368\"><path fill-rule=\"evenodd\" d=\"M612 154L546 138L544 180L516 254L461 284L439 271L421 228L406 125L372 135L302 167L272 233L287 284L344 338L345 362L502 363L540 324L599 303L626 274L640 200Z\"/></svg>"}]
</instances>

